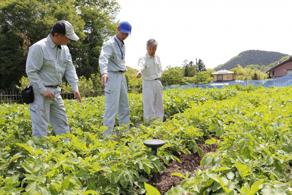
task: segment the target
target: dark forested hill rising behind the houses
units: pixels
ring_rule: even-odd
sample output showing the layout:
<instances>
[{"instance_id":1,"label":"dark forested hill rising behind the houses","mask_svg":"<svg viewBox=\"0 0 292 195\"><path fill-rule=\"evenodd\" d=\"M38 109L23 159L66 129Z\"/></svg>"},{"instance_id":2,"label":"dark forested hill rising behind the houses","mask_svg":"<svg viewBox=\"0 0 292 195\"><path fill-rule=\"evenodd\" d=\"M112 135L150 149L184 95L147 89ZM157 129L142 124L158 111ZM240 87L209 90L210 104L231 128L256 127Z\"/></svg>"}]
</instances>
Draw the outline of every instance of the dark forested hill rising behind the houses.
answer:
<instances>
[{"instance_id":1,"label":"dark forested hill rising behind the houses","mask_svg":"<svg viewBox=\"0 0 292 195\"><path fill-rule=\"evenodd\" d=\"M241 65L242 68L245 68L247 65L269 65L275 61L278 61L288 54L282 54L275 51L261 51L261 50L246 50L231 58L225 64L216 66L213 70L230 70L232 68L237 68L237 65Z\"/></svg>"}]
</instances>

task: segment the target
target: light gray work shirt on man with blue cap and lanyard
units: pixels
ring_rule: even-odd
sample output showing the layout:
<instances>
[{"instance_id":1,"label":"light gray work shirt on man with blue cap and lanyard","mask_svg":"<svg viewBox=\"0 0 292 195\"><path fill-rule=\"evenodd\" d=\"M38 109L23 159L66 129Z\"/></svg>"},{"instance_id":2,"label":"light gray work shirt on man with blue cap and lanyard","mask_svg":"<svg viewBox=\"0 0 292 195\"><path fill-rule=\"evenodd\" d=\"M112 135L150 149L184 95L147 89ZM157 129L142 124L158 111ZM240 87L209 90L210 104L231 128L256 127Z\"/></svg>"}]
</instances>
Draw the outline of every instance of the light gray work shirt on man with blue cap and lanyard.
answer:
<instances>
[{"instance_id":1,"label":"light gray work shirt on man with blue cap and lanyard","mask_svg":"<svg viewBox=\"0 0 292 195\"><path fill-rule=\"evenodd\" d=\"M115 40L115 39L117 40ZM120 60L125 59L125 45L117 36L109 39L103 46L99 57L100 73L107 74L110 72L127 71L126 66L121 65ZM119 47L120 46L120 47ZM121 48L121 49L120 49Z\"/></svg>"}]
</instances>

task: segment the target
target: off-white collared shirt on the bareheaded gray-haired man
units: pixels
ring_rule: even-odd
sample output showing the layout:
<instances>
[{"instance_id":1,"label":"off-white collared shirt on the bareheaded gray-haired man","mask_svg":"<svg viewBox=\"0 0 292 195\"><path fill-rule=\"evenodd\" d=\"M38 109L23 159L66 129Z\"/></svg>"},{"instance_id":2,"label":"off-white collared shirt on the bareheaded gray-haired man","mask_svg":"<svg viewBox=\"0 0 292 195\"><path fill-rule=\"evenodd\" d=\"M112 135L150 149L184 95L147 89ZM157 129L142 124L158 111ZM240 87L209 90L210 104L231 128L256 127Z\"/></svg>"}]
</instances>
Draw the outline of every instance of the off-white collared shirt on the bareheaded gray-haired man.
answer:
<instances>
[{"instance_id":1,"label":"off-white collared shirt on the bareheaded gray-haired man","mask_svg":"<svg viewBox=\"0 0 292 195\"><path fill-rule=\"evenodd\" d=\"M146 51L146 54L139 58L138 70L141 71L144 80L154 80L161 77L162 66L159 56L155 54L153 58Z\"/></svg>"}]
</instances>

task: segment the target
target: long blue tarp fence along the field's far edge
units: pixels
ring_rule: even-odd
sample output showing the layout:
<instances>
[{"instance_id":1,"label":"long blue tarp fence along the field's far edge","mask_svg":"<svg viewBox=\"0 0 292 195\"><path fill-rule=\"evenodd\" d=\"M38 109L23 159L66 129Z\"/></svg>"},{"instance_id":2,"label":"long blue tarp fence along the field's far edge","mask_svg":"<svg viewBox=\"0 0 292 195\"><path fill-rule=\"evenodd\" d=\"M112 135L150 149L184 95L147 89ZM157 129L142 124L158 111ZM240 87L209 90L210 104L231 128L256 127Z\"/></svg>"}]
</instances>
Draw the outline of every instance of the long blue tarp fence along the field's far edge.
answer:
<instances>
[{"instance_id":1,"label":"long blue tarp fence along the field's far edge","mask_svg":"<svg viewBox=\"0 0 292 195\"><path fill-rule=\"evenodd\" d=\"M163 87L163 90L165 90L166 88L185 89L185 88L198 88L198 87L201 87L203 89L206 89L206 88L221 89L223 86L234 85L237 83L240 84L241 86L248 86L249 84L251 84L252 86L261 85L263 87L270 87L270 86L286 87L286 86L292 85L292 75L286 75L284 77L279 77L276 79L266 79L266 80L234 80L230 82L221 82L221 83L212 82L212 83L201 84L201 85L196 85L196 84L179 85L179 86L166 85Z\"/></svg>"}]
</instances>

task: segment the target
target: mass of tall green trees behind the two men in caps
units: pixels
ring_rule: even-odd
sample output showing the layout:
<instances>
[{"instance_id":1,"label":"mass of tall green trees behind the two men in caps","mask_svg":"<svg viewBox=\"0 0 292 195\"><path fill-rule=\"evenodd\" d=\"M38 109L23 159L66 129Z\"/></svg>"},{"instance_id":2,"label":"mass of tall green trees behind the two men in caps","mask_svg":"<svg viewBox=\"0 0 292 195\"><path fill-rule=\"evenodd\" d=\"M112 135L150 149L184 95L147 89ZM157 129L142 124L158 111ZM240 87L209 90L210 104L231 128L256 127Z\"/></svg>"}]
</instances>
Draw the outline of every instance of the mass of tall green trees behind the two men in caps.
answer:
<instances>
[{"instance_id":1,"label":"mass of tall green trees behind the two men in caps","mask_svg":"<svg viewBox=\"0 0 292 195\"><path fill-rule=\"evenodd\" d=\"M45 38L59 20L68 20L80 40L67 45L77 75L90 78L100 74L98 57L104 40L116 33L114 22L120 6L114 0L2 0L0 1L0 66L18 77L25 75L24 48ZM25 36L22 36L25 35ZM14 37L14 38L13 38ZM14 40L15 39L15 40ZM29 42L25 42L25 40ZM9 46L13 44L13 46ZM22 57L20 57L22 54ZM17 60L15 59L17 57ZM14 63L17 61L17 63ZM4 62L8 63L4 65ZM13 68L14 67L14 68ZM1 89L13 90L1 75Z\"/></svg>"}]
</instances>

